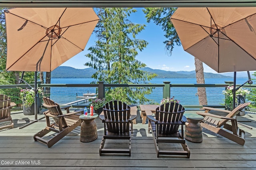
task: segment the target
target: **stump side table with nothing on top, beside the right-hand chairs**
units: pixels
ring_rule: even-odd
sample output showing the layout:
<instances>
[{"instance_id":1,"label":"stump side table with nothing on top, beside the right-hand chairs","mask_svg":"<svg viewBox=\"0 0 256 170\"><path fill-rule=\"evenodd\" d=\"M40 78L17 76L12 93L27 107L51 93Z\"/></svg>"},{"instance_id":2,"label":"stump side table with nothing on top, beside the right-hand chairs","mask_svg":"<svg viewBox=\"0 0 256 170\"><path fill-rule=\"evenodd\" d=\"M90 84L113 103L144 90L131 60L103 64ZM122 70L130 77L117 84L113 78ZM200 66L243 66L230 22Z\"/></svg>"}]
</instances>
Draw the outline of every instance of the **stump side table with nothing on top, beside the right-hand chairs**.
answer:
<instances>
[{"instance_id":1,"label":"stump side table with nothing on top, beside the right-hand chairs","mask_svg":"<svg viewBox=\"0 0 256 170\"><path fill-rule=\"evenodd\" d=\"M185 123L185 139L190 142L201 143L203 141L203 135L200 121L204 117L195 113L184 113L183 116L187 119Z\"/></svg>"}]
</instances>

